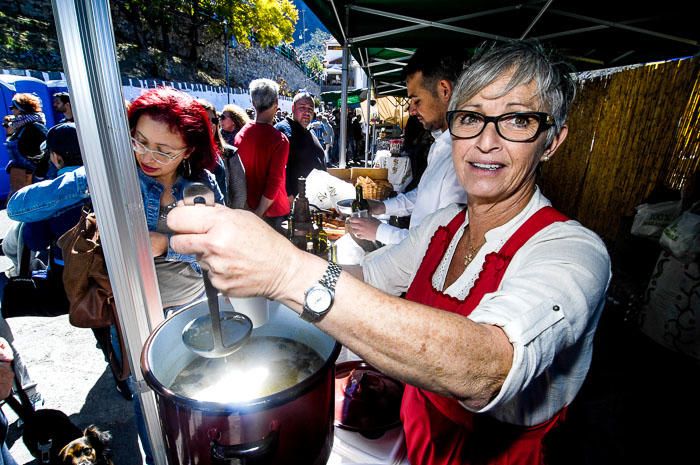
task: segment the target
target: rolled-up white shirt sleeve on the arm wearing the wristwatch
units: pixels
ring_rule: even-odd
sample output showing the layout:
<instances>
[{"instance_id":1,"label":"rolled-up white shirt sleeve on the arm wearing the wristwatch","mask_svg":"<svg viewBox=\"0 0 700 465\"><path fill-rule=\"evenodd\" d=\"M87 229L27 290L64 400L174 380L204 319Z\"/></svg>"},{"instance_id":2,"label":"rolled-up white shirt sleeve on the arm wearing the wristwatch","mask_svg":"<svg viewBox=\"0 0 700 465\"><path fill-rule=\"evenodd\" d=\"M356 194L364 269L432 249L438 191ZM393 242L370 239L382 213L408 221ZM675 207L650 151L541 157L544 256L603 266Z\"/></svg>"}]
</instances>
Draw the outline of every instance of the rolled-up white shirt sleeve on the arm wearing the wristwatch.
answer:
<instances>
[{"instance_id":1,"label":"rolled-up white shirt sleeve on the arm wearing the wristwatch","mask_svg":"<svg viewBox=\"0 0 700 465\"><path fill-rule=\"evenodd\" d=\"M479 412L496 410L497 417L535 424L573 399L590 362L610 276L604 244L575 222L554 224L520 249L498 291L469 315L503 329L514 349L500 392ZM519 416L508 417L515 412Z\"/></svg>"}]
</instances>

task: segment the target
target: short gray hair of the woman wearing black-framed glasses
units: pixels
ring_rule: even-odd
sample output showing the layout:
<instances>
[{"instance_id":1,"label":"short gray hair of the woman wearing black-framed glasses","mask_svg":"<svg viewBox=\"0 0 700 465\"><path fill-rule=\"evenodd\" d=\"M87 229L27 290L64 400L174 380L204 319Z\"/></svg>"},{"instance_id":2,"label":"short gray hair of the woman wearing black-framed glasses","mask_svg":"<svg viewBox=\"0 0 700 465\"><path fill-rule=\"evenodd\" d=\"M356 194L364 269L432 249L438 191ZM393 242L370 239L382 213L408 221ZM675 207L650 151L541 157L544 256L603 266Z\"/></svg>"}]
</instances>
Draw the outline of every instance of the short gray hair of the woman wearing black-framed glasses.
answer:
<instances>
[{"instance_id":1,"label":"short gray hair of the woman wearing black-framed glasses","mask_svg":"<svg viewBox=\"0 0 700 465\"><path fill-rule=\"evenodd\" d=\"M576 77L571 65L545 51L537 42L513 41L477 51L455 85L448 110L458 110L508 73L512 73L512 77L503 95L519 85L535 82L536 96L542 106L539 110L554 117L554 126L547 132L545 143L545 147L549 146L566 122L576 95Z\"/></svg>"}]
</instances>

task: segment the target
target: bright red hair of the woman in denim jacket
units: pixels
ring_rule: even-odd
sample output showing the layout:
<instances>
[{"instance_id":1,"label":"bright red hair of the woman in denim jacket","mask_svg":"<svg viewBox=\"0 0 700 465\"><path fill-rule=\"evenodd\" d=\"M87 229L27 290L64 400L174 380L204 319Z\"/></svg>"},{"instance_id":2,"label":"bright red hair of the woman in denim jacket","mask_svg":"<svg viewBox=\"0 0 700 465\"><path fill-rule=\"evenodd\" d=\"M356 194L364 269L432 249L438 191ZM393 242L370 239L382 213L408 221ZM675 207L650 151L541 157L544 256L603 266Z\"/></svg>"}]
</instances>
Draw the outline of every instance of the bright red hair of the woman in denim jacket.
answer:
<instances>
[{"instance_id":1,"label":"bright red hair of the woman in denim jacket","mask_svg":"<svg viewBox=\"0 0 700 465\"><path fill-rule=\"evenodd\" d=\"M187 147L192 149L189 161L193 179L199 177L205 168L211 171L216 166L219 155L209 116L192 96L172 87L148 90L129 105L129 127L132 130L143 115L167 124L171 131L185 139Z\"/></svg>"}]
</instances>

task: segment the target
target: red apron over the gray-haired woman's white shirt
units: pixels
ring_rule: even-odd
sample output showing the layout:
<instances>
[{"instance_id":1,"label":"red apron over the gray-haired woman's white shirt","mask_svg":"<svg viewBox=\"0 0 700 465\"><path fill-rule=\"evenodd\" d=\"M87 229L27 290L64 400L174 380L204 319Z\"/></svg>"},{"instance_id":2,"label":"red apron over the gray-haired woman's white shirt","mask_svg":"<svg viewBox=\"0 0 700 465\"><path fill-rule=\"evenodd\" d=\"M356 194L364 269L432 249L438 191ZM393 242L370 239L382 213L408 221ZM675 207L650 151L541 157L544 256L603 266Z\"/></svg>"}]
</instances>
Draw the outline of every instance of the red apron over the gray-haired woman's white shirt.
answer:
<instances>
[{"instance_id":1,"label":"red apron over the gray-haired woman's white shirt","mask_svg":"<svg viewBox=\"0 0 700 465\"><path fill-rule=\"evenodd\" d=\"M435 290L432 277L450 241L465 220L461 211L433 235L406 298L448 312L467 316L485 294L494 292L513 255L534 234L556 221L568 218L552 207L532 215L498 252L486 256L481 273L465 300ZM401 419L406 433L408 458L413 465L539 465L543 461L542 440L563 417L564 410L542 424L525 427L499 422L475 414L457 400L406 386Z\"/></svg>"}]
</instances>

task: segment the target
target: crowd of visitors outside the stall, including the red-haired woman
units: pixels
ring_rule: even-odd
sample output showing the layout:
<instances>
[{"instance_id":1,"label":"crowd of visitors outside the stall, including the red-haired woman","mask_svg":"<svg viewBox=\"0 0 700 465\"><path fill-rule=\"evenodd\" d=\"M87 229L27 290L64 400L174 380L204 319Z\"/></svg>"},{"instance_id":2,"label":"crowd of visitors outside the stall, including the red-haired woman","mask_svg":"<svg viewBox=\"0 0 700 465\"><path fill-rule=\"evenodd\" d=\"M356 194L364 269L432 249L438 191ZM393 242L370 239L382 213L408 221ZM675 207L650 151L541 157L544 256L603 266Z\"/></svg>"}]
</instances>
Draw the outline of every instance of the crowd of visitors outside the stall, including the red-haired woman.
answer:
<instances>
[{"instance_id":1,"label":"crowd of visitors outside the stall, including the red-haired woman","mask_svg":"<svg viewBox=\"0 0 700 465\"><path fill-rule=\"evenodd\" d=\"M211 102L162 87L126 102L131 145L137 166L146 223L149 230L161 303L166 315L203 296L204 285L196 257L175 252L166 224L170 210L183 198L192 182L204 183L215 201L229 208L247 209L280 230L297 194L296 179L312 169L325 170L334 141L328 116L318 114L315 99L306 92L294 97L292 112L279 109L279 85L256 79L249 87L252 108L234 104L217 109ZM19 273L20 257L31 250L32 268L62 272L58 239L80 218L89 205L90 190L83 166L78 131L73 122L70 95L53 96L53 106L63 118L51 128L41 100L17 93L11 115L4 118L10 175L8 217L14 222L2 240L3 254L14 267L3 273ZM318 121L321 128L314 126ZM48 201L46 201L48 200ZM48 251L52 253L48 253ZM13 340L10 326L0 317L0 337ZM112 328L113 353L121 355L116 328ZM36 405L43 398L21 357L15 366L22 388ZM134 396L133 380L120 392L134 399L136 418L146 461L152 462L143 417Z\"/></svg>"}]
</instances>

